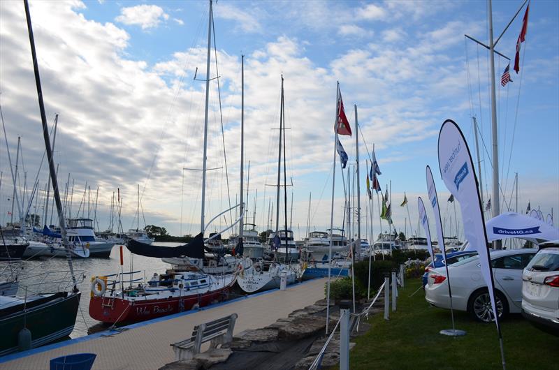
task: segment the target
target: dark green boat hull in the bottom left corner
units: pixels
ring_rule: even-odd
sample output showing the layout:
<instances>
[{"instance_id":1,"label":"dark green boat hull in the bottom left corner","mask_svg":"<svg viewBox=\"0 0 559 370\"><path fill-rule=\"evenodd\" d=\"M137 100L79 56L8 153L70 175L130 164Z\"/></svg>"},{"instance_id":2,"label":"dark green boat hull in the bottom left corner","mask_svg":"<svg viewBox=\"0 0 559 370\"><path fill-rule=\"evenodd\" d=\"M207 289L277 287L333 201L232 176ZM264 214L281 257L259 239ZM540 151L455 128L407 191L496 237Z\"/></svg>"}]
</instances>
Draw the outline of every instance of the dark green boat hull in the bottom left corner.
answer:
<instances>
[{"instance_id":1,"label":"dark green boat hull in the bottom left corner","mask_svg":"<svg viewBox=\"0 0 559 370\"><path fill-rule=\"evenodd\" d=\"M57 293L47 302L34 302L27 304L24 313L21 309L12 308L0 318L0 356L14 353L19 350L17 335L24 327L31 332L31 348L44 346L57 339L68 336L75 325L75 316L78 313L80 295ZM31 308L29 308L31 306ZM4 311L4 310L2 310ZM1 314L1 311L0 311Z\"/></svg>"}]
</instances>

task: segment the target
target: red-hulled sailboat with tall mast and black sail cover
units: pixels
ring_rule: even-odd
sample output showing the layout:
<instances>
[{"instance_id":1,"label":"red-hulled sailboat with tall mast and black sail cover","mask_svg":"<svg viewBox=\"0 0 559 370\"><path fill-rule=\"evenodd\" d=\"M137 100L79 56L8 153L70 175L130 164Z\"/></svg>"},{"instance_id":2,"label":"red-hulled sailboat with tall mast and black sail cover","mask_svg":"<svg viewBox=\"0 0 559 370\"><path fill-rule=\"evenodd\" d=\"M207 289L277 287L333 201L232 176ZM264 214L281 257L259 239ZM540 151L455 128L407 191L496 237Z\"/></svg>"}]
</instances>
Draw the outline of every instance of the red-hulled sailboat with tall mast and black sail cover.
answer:
<instances>
[{"instance_id":1,"label":"red-hulled sailboat with tall mast and black sail cover","mask_svg":"<svg viewBox=\"0 0 559 370\"><path fill-rule=\"evenodd\" d=\"M204 147L202 170L202 197L201 197L201 232L194 239L183 246L166 247L150 245L129 239L126 247L133 254L153 258L180 258L187 260L203 260L205 257L205 244L217 238L226 230L233 228L240 219L229 225L228 228L215 233L208 239L203 234L208 230L212 221L222 214L238 207L218 214L209 223L205 223L205 183L206 161L208 149L208 97L210 84L210 51L212 47L213 11L210 0L208 21L208 59L205 78L205 123ZM242 212L241 212L242 217ZM121 255L122 260L122 255ZM122 263L121 263L122 265ZM228 292L235 283L237 270L231 273L224 271L222 274L208 274L197 265L180 265L167 269L162 274L154 274L150 281L139 282L143 279L133 279L136 272L121 272L111 276L94 276L92 278L92 298L89 301L89 315L103 323L134 323L161 316L170 315L189 310L194 306L205 306L213 302L226 299ZM115 279L110 279L115 277ZM123 279L127 279L123 281ZM129 283L129 286L124 286ZM134 284L133 284L134 283Z\"/></svg>"}]
</instances>

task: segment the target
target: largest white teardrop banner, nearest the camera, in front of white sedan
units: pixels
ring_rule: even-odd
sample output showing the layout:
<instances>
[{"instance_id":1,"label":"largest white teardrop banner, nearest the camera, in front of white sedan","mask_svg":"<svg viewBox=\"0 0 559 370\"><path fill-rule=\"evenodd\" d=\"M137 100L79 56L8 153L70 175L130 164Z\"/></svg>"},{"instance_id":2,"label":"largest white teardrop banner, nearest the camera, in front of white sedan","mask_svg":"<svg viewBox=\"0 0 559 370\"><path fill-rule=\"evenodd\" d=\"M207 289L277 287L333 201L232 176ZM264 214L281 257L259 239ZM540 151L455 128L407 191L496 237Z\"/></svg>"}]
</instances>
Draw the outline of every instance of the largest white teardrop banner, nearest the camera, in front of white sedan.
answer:
<instances>
[{"instance_id":1,"label":"largest white teardrop banner, nearest the camera, in front of white sedan","mask_svg":"<svg viewBox=\"0 0 559 370\"><path fill-rule=\"evenodd\" d=\"M460 203L464 234L467 242L474 246L479 255L481 275L488 287L493 317L499 334L501 359L504 368L504 353L499 317L495 306L495 287L491 258L487 247L484 210L479 198L479 187L474 172L474 163L470 148L456 122L447 119L439 133L439 168L444 184L454 199Z\"/></svg>"}]
</instances>

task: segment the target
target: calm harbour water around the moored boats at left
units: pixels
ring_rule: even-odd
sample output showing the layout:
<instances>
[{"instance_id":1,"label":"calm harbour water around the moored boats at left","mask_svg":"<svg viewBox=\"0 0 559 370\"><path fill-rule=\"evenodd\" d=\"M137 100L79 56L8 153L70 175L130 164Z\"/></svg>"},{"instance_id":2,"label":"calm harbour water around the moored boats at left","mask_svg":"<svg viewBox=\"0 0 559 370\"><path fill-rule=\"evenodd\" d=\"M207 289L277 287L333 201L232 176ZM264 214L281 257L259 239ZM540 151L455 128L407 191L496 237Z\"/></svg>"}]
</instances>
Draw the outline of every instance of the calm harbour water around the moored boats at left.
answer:
<instances>
[{"instance_id":1,"label":"calm harbour water around the moored boats at left","mask_svg":"<svg viewBox=\"0 0 559 370\"><path fill-rule=\"evenodd\" d=\"M181 243L157 243L158 245L162 246L179 246ZM115 245L112 247L112 251L110 253L109 258L80 258L73 260L73 267L76 273L76 277L80 278L80 283L78 283L78 288L82 295L80 297L80 309L78 309L78 316L75 319L75 327L70 335L71 338L78 338L80 336L87 335L87 330L89 327L99 324L99 321L94 320L89 316L89 297L91 292L91 278L92 276L96 275L110 275L110 274L117 274L120 272L120 256L119 256L119 246ZM159 258L150 258L144 256L133 256L133 260L131 261L131 253L126 246L122 247L122 254L124 265L123 270L124 272L131 271L131 262L133 264L133 271L140 272L138 274L134 274L134 279L143 278L144 276L152 276L154 272L158 274L164 272L165 269L170 267L168 263L161 261ZM6 262L0 263L0 269L6 266ZM50 283L48 284L46 281L45 283L41 284L41 288L38 286L30 286L29 291L38 292L39 289L41 292L48 293L49 291L52 292L52 289L61 288L66 290L71 289L71 281L70 275L68 274L68 262L66 262L65 258L49 258L45 260L29 260L24 262L24 269L18 274L20 277L20 290L18 292L19 295L24 295L24 288L22 286L24 284L29 284L31 281L33 283L39 283L39 278L34 277L36 274L41 274L44 272L50 272L47 280L64 280L64 283ZM145 275L144 275L145 274ZM29 279L25 279L29 276ZM83 278L85 276L85 278ZM125 280L127 279L124 275ZM30 284L33 284L30 283ZM98 325L99 326L99 325Z\"/></svg>"}]
</instances>

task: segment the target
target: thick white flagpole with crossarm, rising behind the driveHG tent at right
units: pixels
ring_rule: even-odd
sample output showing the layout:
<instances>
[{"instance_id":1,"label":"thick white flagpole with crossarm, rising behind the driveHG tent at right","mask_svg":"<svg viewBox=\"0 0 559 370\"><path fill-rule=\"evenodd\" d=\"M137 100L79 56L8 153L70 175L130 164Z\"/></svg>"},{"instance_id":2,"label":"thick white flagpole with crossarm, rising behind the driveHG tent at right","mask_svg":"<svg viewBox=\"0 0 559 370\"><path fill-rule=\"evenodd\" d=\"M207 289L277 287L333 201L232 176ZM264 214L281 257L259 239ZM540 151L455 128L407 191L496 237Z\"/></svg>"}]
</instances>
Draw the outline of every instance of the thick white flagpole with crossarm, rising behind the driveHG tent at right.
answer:
<instances>
[{"instance_id":1,"label":"thick white flagpole with crossarm, rising behind the driveHG tent at right","mask_svg":"<svg viewBox=\"0 0 559 370\"><path fill-rule=\"evenodd\" d=\"M493 140L493 217L499 216L499 151L497 131L497 98L495 97L495 44L493 43L493 14L491 0L488 1L489 18L489 61L491 61L491 138ZM457 232L458 233L458 232ZM501 249L500 240L493 242L495 249Z\"/></svg>"}]
</instances>

